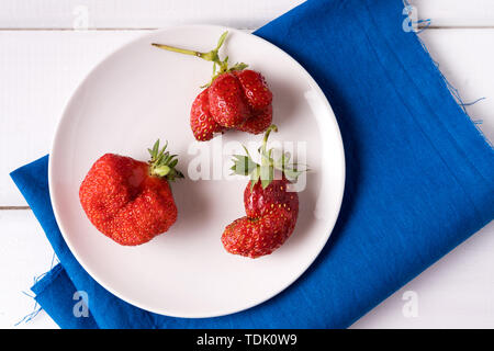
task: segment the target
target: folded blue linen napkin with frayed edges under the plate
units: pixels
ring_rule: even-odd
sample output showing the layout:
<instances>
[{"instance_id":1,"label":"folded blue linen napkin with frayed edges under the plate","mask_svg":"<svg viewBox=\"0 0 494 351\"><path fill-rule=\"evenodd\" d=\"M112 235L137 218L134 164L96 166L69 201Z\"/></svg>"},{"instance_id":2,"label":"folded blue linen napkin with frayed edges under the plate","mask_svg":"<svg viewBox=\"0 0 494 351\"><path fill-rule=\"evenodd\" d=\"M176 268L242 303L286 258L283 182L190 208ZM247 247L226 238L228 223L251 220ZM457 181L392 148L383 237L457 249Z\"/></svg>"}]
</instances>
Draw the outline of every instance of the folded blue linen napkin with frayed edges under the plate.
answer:
<instances>
[{"instance_id":1,"label":"folded blue linen napkin with frayed edges under the plate","mask_svg":"<svg viewBox=\"0 0 494 351\"><path fill-rule=\"evenodd\" d=\"M60 265L33 291L63 328L345 328L494 217L494 151L451 97L403 2L312 0L256 32L301 63L338 120L341 213L315 263L270 301L229 316L172 318L113 296L55 222L44 157L12 172ZM282 97L278 97L282 99ZM89 317L72 314L72 292Z\"/></svg>"}]
</instances>

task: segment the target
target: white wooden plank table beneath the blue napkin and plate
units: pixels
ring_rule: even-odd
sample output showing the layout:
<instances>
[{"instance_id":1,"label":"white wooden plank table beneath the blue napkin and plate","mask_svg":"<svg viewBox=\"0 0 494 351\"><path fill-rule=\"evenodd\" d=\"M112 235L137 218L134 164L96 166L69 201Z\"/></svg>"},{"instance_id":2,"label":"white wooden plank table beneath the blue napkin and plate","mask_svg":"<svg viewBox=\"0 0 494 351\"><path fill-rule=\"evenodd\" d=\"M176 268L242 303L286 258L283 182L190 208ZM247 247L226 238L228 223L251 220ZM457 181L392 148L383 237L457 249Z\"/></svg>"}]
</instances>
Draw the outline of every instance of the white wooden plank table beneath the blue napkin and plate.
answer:
<instances>
[{"instance_id":1,"label":"white wooden plank table beneath the blue napkin and plate","mask_svg":"<svg viewBox=\"0 0 494 351\"><path fill-rule=\"evenodd\" d=\"M48 152L57 120L85 75L114 48L153 29L210 23L252 31L302 2L0 1L0 328L14 327L33 310L22 291L30 292L33 278L53 258L9 172ZM420 19L431 19L420 36L463 101L486 98L467 109L494 141L494 1L411 3ZM491 223L352 327L494 328L493 252ZM56 327L43 312L18 326Z\"/></svg>"}]
</instances>

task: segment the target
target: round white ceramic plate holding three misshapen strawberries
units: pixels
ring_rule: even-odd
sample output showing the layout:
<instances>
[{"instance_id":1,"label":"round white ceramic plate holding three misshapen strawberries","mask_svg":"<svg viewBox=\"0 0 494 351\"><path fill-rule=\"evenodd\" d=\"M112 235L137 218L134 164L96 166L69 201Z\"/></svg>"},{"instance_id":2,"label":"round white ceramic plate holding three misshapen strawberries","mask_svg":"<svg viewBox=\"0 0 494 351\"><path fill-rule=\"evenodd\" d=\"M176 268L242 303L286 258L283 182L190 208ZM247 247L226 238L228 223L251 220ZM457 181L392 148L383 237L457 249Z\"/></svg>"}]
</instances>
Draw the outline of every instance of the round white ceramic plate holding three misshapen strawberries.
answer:
<instances>
[{"instance_id":1,"label":"round white ceramic plate holding three misshapen strawberries","mask_svg":"<svg viewBox=\"0 0 494 351\"><path fill-rule=\"evenodd\" d=\"M228 132L197 143L190 106L207 82L212 64L169 53L150 43L210 50L225 27L182 26L156 31L110 55L85 79L59 122L49 159L52 203L67 245L102 286L141 308L177 317L212 317L239 312L293 283L326 244L338 216L345 184L345 156L334 113L311 76L289 55L250 34L228 30L221 50L229 61L261 71L273 92L273 141L295 143L312 171L300 192L292 237L256 260L227 253L224 227L245 215L246 178L192 180L198 156L210 152L217 178L231 166L228 146L261 136ZM100 234L79 203L79 185L91 165L114 152L147 160L146 148L160 138L180 155L189 178L172 184L178 220L164 235L138 247L123 247ZM198 146L199 150L198 151ZM276 144L273 144L276 146ZM301 152L296 152L297 148ZM197 155L193 155L198 152ZM218 166L220 165L220 166ZM226 172L225 173L229 173ZM207 174L205 178L207 178ZM221 177L222 178L222 177ZM90 296L89 296L90 298Z\"/></svg>"}]
</instances>

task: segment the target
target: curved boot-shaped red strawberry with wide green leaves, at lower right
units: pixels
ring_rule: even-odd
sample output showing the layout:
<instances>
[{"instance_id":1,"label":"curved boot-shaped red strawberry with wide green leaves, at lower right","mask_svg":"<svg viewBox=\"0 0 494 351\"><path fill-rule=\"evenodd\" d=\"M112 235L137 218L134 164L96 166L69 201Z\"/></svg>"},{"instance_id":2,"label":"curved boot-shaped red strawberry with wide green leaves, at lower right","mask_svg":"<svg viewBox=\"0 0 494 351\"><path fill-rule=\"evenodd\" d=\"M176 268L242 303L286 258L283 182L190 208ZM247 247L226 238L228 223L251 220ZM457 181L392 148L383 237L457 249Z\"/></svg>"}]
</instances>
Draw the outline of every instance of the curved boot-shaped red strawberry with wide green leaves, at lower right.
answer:
<instances>
[{"instance_id":1,"label":"curved boot-shaped red strawberry with wide green leaves, at lower right","mask_svg":"<svg viewBox=\"0 0 494 351\"><path fill-rule=\"evenodd\" d=\"M234 254L258 258L270 254L292 235L299 216L299 195L288 186L301 174L296 166L288 165L289 155L273 160L272 149L267 150L271 125L259 152L262 162L252 161L250 155L235 155L232 170L235 174L250 176L244 191L246 216L226 226L222 242L226 251ZM281 179L273 179L274 172Z\"/></svg>"}]
</instances>

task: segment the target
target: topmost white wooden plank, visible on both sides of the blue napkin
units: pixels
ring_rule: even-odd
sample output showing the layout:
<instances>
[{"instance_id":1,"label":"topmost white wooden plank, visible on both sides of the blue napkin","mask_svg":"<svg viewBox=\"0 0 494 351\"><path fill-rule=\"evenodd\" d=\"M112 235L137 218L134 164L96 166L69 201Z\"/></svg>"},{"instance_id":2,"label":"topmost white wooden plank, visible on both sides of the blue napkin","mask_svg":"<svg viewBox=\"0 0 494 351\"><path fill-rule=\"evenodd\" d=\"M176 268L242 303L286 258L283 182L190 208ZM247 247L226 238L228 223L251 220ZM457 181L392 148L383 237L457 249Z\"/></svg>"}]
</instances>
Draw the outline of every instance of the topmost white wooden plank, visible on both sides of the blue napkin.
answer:
<instances>
[{"instance_id":1,"label":"topmost white wooden plank, visible on both sides of the blue napkin","mask_svg":"<svg viewBox=\"0 0 494 351\"><path fill-rule=\"evenodd\" d=\"M303 0L3 0L0 29L157 29L209 23L257 29ZM492 0L411 0L434 26L494 26Z\"/></svg>"}]
</instances>

